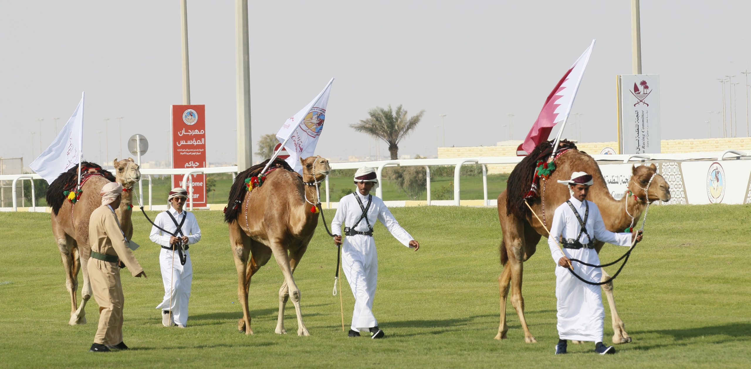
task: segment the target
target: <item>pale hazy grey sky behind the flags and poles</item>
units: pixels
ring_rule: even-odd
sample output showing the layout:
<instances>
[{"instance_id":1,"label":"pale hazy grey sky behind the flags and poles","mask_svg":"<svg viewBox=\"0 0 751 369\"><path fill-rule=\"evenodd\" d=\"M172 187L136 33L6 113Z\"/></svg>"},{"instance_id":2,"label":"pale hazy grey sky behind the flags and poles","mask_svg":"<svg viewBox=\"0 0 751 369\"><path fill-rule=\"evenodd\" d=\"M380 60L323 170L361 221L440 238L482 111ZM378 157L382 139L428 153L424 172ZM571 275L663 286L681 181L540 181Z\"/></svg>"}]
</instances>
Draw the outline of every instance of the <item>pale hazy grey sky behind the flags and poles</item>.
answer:
<instances>
[{"instance_id":1,"label":"pale hazy grey sky behind the flags and poles","mask_svg":"<svg viewBox=\"0 0 751 369\"><path fill-rule=\"evenodd\" d=\"M207 160L234 162L234 1L189 0L188 17L192 103L206 104ZM660 74L663 139L707 137L707 111L722 108L716 78L725 74L740 82L738 133L746 135L740 71L751 68L749 17L749 2L641 2L642 71ZM632 73L630 21L628 0L251 1L254 145L330 77L322 156L375 153L374 141L348 125L388 104L425 110L400 155L436 154L441 113L447 146L508 139L508 113L512 138L522 139L592 39L572 112L583 114L582 141L615 141L615 75ZM23 156L29 165L32 150L40 153L36 119L44 119L46 148L52 118L62 127L86 91L85 159L99 160L104 118L110 159L119 156L117 116L125 116L123 141L135 133L149 139L144 161L169 159L170 104L182 103L179 1L2 1L0 35L0 156Z\"/></svg>"}]
</instances>

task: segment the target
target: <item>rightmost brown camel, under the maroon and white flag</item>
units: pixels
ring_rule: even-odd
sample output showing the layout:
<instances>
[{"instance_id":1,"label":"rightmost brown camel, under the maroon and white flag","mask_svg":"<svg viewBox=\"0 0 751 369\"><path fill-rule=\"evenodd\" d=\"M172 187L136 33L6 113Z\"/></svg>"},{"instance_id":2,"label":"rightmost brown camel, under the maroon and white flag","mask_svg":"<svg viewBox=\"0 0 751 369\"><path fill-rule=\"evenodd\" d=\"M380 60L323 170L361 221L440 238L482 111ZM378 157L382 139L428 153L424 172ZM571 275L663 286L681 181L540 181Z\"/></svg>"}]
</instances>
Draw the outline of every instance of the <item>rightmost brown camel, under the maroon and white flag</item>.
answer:
<instances>
[{"instance_id":1,"label":"rightmost brown camel, under the maroon and white flag","mask_svg":"<svg viewBox=\"0 0 751 369\"><path fill-rule=\"evenodd\" d=\"M548 145L551 146L551 145ZM549 150L549 148L548 148ZM530 160L533 164L534 158ZM524 162L520 163L522 165ZM528 162L529 163L529 162ZM634 167L632 169L632 177L629 181L629 190L633 195L626 195L620 201L615 200L610 192L608 192L608 186L605 184L605 179L602 177L599 166L591 156L587 153L580 152L573 149L565 153L562 153L558 159L556 159L556 170L548 178L547 182L550 186L545 186L545 180L540 179L539 192L544 189L544 211L541 205L540 198L535 198L535 201L529 201L529 205L535 213L542 218L543 214L547 217L545 222L547 223L547 230L550 230L550 221L553 217L553 212L560 204L568 200L571 196L567 186L559 184L556 180L568 180L574 171L584 171L588 174L592 174L594 183L590 186L590 192L587 196L587 200L593 201L599 207L600 213L602 213L602 219L605 221L605 228L608 231L623 232L624 229L632 224L632 218L626 213L628 212L635 217L634 228L637 228L637 222L639 216L647 206L647 201L652 202L656 200L669 201L670 200L670 186L662 178L661 175L656 174L655 165L642 165ZM521 170L521 169L520 169ZM516 169L514 169L516 171ZM656 174L656 175L655 175ZM654 177L653 177L654 175ZM653 177L650 184L648 194L645 194L645 188L650 178ZM531 180L531 178L530 178ZM526 181L526 189L529 189L531 183ZM509 178L509 187L511 187L511 178ZM517 311L521 326L524 330L524 341L526 343L535 343L535 337L529 333L529 327L527 327L526 319L524 319L524 299L521 294L522 286L522 274L523 274L523 262L526 262L529 257L535 253L535 248L540 240L541 236L547 237L546 227L539 222L532 213L526 209L526 205L521 203L524 209L518 211L512 211L511 204L507 208L507 198L509 195L508 188L505 189L498 196L498 216L501 222L501 228L503 231L503 238L500 244L501 264L503 265L503 271L498 277L499 289L500 289L500 307L501 307L501 319L498 327L498 334L496 340L505 339L506 332L508 331L508 325L506 325L506 298L508 295L508 286L511 283L511 305ZM512 190L513 191L513 190ZM517 200L519 195L516 195ZM513 203L513 199L511 199ZM518 201L517 201L517 204ZM517 214L523 214L519 216ZM635 230L634 230L635 231ZM596 251L602 249L603 242L596 243ZM544 254L547 253L547 245L544 247ZM543 255L545 257L545 255ZM549 256L548 256L549 257ZM552 262L552 261L551 261ZM553 265L553 264L551 264ZM608 280L610 276L602 271L602 281ZM599 281L593 281L599 282ZM615 306L615 300L613 298L613 282L602 285L602 289L605 290L605 295L608 298L608 304L610 305L611 316L613 320L613 343L627 343L631 342L631 337L626 333L626 330L618 316L618 312Z\"/></svg>"}]
</instances>

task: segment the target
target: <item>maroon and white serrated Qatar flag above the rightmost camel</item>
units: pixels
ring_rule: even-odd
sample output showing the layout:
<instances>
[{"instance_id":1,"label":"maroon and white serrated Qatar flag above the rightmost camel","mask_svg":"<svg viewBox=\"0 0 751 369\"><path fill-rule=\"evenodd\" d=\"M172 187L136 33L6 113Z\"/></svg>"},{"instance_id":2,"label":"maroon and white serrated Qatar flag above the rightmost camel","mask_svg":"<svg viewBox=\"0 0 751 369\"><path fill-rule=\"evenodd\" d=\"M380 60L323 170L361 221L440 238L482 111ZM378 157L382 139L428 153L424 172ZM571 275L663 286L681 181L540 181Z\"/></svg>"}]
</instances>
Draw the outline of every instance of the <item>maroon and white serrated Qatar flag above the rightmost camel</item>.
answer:
<instances>
[{"instance_id":1,"label":"maroon and white serrated Qatar flag above the rightmost camel","mask_svg":"<svg viewBox=\"0 0 751 369\"><path fill-rule=\"evenodd\" d=\"M587 62L590 61L590 54L594 46L595 40L592 40L590 47L584 50L584 53L579 56L574 65L566 71L566 74L563 74L550 95L547 95L535 124L529 130L523 144L520 144L517 148L517 156L526 156L528 153L532 153L532 150L535 150L535 147L542 141L547 141L550 131L553 130L553 126L557 122L564 121L565 126L566 118L571 113L581 77L584 76L584 69L587 68ZM559 130L558 138L560 138L561 132L563 132L563 126Z\"/></svg>"}]
</instances>

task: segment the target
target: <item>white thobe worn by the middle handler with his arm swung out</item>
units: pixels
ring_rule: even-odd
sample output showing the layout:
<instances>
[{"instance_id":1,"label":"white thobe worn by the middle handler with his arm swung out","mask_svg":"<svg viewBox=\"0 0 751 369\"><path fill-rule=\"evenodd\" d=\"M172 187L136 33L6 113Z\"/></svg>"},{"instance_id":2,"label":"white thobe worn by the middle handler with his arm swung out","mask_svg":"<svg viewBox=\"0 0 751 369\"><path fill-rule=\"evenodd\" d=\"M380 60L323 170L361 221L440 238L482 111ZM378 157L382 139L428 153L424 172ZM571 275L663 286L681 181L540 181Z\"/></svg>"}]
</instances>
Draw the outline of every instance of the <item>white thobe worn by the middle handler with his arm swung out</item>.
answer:
<instances>
[{"instance_id":1,"label":"white thobe worn by the middle handler with his arm swung out","mask_svg":"<svg viewBox=\"0 0 751 369\"><path fill-rule=\"evenodd\" d=\"M351 227L362 216L363 210L360 208L360 204L357 204L357 199L354 196L360 197L360 201L363 201L363 207L367 206L368 196L360 195L359 192L342 197L339 200L336 215L333 216L331 221L333 234L342 234L342 224ZM375 225L376 219L380 220L386 226L386 229L406 247L409 247L409 241L413 240L412 236L399 225L397 219L394 218L380 198L372 197L367 219L370 225ZM364 218L354 230L368 231L368 225ZM352 289L352 295L354 295L351 329L353 331L368 331L368 328L378 325L378 321L375 320L372 313L375 284L378 277L378 255L375 252L373 237L354 234L344 238L342 243L342 271L347 276L349 287Z\"/></svg>"}]
</instances>

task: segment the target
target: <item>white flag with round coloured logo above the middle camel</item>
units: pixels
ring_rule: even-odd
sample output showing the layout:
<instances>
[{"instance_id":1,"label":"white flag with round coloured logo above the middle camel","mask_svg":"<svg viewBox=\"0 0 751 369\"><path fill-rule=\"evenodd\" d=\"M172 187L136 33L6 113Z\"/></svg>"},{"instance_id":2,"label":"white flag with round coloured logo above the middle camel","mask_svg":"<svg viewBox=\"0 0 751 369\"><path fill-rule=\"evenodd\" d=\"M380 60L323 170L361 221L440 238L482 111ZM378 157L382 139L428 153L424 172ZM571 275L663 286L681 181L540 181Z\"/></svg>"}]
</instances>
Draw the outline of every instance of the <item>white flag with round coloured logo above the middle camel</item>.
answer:
<instances>
[{"instance_id":1,"label":"white flag with round coloured logo above the middle camel","mask_svg":"<svg viewBox=\"0 0 751 369\"><path fill-rule=\"evenodd\" d=\"M284 145L287 153L289 153L289 157L285 160L297 173L302 174L303 171L300 158L313 155L315 144L318 144L318 136L324 129L326 105L328 104L332 82L333 78L327 83L323 91L315 96L313 101L310 101L310 104L287 119L282 125L282 129L276 132L276 139Z\"/></svg>"}]
</instances>

